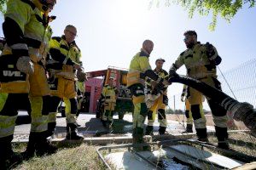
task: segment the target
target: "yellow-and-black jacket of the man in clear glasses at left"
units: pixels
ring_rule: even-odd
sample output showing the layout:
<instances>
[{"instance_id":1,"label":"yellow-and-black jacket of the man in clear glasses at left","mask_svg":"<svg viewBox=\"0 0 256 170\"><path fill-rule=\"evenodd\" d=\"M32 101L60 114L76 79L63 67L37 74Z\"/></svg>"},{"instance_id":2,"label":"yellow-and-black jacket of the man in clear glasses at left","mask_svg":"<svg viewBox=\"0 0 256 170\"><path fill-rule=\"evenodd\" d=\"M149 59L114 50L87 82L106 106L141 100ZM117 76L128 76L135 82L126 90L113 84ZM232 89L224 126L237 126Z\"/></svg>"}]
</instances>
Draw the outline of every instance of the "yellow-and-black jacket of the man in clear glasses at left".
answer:
<instances>
[{"instance_id":1,"label":"yellow-and-black jacket of the man in clear glasses at left","mask_svg":"<svg viewBox=\"0 0 256 170\"><path fill-rule=\"evenodd\" d=\"M57 70L56 76L74 80L73 65L82 65L81 52L76 43L68 44L64 36L52 37L49 41L49 54L55 63L49 64L48 68Z\"/></svg>"}]
</instances>

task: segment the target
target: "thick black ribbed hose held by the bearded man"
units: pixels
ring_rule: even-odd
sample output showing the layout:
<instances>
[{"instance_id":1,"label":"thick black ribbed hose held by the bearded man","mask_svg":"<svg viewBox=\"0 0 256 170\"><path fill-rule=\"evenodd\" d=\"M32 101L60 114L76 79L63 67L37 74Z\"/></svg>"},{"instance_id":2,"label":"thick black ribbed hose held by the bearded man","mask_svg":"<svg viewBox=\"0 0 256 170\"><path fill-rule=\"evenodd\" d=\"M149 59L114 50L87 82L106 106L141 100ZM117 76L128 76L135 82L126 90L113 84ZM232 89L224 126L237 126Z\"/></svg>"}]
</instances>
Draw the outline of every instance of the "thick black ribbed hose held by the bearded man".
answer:
<instances>
[{"instance_id":1,"label":"thick black ribbed hose held by the bearded man","mask_svg":"<svg viewBox=\"0 0 256 170\"><path fill-rule=\"evenodd\" d=\"M217 88L212 88L205 82L200 82L191 77L180 76L176 72L170 75L169 82L178 82L195 88L207 98L224 107L226 111L230 111L236 121L244 122L246 127L253 133L253 136L256 135L256 110L253 109L253 105L246 102L241 103Z\"/></svg>"}]
</instances>

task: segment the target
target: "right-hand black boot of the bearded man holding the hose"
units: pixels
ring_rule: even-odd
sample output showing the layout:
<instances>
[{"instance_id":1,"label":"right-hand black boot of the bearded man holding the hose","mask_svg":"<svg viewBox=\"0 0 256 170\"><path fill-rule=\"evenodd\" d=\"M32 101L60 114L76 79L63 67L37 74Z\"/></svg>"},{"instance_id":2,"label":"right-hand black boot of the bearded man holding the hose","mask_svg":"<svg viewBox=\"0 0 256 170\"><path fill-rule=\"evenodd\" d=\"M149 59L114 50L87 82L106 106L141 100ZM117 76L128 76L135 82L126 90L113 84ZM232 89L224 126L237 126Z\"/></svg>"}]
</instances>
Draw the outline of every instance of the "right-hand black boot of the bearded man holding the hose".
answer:
<instances>
[{"instance_id":1,"label":"right-hand black boot of the bearded man holding the hose","mask_svg":"<svg viewBox=\"0 0 256 170\"><path fill-rule=\"evenodd\" d=\"M217 127L215 126L216 137L218 139L218 148L229 150L228 144L228 128L227 127Z\"/></svg>"}]
</instances>

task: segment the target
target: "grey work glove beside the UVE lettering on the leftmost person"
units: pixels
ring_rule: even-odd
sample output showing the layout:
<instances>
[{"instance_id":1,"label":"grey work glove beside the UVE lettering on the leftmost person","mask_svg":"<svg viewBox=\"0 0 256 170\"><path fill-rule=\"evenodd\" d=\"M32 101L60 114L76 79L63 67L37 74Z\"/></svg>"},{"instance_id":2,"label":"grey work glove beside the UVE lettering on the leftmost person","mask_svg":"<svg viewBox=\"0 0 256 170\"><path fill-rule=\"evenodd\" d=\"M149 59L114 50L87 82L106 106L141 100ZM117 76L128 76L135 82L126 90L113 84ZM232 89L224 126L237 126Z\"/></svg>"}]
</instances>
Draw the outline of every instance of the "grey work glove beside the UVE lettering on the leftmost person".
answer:
<instances>
[{"instance_id":1,"label":"grey work glove beside the UVE lettering on the leftmost person","mask_svg":"<svg viewBox=\"0 0 256 170\"><path fill-rule=\"evenodd\" d=\"M21 56L16 63L16 67L19 71L26 74L33 74L34 65L29 56Z\"/></svg>"}]
</instances>

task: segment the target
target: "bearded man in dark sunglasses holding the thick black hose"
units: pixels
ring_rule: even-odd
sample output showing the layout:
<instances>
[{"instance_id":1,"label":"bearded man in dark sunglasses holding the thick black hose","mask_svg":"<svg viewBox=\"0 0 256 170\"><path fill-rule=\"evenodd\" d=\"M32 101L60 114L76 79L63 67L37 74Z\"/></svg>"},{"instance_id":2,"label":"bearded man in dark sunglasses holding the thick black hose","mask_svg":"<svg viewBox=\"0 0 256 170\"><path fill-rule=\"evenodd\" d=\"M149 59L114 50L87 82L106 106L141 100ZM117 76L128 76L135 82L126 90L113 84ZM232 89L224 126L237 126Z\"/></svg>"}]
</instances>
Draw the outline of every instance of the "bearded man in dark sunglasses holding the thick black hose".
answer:
<instances>
[{"instance_id":1,"label":"bearded man in dark sunglasses holding the thick black hose","mask_svg":"<svg viewBox=\"0 0 256 170\"><path fill-rule=\"evenodd\" d=\"M201 82L205 82L213 88L221 90L220 82L217 79L216 66L220 64L221 58L215 47L209 42L201 44L197 42L195 31L186 31L184 33L184 42L187 49L179 55L170 69L172 75L182 65L186 66L187 75ZM200 141L208 141L206 120L201 116L201 93L194 88L188 88L189 104L194 119L195 130ZM208 105L212 110L213 122L215 123L216 136L218 138L218 147L228 149L227 143L227 115L220 105L207 99Z\"/></svg>"}]
</instances>

